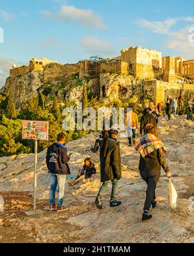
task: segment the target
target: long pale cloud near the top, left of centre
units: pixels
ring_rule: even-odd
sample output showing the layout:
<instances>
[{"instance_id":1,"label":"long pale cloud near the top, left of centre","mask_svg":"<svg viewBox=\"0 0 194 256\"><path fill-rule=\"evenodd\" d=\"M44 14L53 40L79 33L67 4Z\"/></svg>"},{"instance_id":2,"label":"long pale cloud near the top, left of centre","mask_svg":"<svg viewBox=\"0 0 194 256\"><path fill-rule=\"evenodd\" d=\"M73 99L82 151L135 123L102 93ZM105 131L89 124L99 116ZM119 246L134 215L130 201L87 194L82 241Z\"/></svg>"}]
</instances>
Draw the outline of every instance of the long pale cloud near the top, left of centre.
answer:
<instances>
[{"instance_id":1,"label":"long pale cloud near the top, left of centre","mask_svg":"<svg viewBox=\"0 0 194 256\"><path fill-rule=\"evenodd\" d=\"M41 11L43 16L48 19L58 19L63 23L70 21L77 21L89 28L106 29L107 27L103 24L102 17L94 14L92 10L79 9L70 5L63 5L57 14L54 14L48 10Z\"/></svg>"}]
</instances>

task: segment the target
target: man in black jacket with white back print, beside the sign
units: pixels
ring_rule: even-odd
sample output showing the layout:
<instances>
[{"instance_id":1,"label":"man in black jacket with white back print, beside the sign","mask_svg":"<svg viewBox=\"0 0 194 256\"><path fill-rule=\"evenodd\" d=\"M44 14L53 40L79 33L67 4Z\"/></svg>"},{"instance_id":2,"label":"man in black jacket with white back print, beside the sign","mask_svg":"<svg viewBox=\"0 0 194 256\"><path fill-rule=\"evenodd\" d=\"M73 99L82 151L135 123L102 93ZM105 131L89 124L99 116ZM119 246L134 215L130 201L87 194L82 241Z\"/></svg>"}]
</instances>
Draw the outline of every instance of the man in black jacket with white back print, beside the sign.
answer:
<instances>
[{"instance_id":1,"label":"man in black jacket with white back print, beside the sign","mask_svg":"<svg viewBox=\"0 0 194 256\"><path fill-rule=\"evenodd\" d=\"M51 175L51 186L49 193L50 211L56 210L55 193L58 187L58 211L67 211L68 207L63 205L65 192L66 175L70 174L69 165L67 164L70 156L67 155L65 144L65 134L58 135L58 142L52 144L47 150L47 168Z\"/></svg>"}]
</instances>

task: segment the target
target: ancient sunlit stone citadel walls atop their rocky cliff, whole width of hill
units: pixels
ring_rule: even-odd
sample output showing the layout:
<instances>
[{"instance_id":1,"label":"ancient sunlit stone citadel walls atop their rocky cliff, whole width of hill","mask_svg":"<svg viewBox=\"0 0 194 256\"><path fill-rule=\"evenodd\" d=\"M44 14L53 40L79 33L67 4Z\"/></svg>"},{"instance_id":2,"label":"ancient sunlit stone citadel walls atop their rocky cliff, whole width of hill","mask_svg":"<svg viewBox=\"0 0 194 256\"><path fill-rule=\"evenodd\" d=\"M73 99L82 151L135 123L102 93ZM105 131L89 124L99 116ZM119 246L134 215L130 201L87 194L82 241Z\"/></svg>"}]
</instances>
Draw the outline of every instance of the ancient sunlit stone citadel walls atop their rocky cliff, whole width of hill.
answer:
<instances>
[{"instance_id":1,"label":"ancient sunlit stone citadel walls atop their rocky cliff, whole width of hill","mask_svg":"<svg viewBox=\"0 0 194 256\"><path fill-rule=\"evenodd\" d=\"M116 58L92 57L77 64L59 64L47 58L32 59L28 66L10 69L1 92L12 87L16 104L33 92L49 87L61 102L79 100L87 84L98 99L128 99L136 95L164 102L167 95L187 99L194 95L194 60L164 56L155 49L125 48ZM74 91L73 91L74 90Z\"/></svg>"}]
</instances>

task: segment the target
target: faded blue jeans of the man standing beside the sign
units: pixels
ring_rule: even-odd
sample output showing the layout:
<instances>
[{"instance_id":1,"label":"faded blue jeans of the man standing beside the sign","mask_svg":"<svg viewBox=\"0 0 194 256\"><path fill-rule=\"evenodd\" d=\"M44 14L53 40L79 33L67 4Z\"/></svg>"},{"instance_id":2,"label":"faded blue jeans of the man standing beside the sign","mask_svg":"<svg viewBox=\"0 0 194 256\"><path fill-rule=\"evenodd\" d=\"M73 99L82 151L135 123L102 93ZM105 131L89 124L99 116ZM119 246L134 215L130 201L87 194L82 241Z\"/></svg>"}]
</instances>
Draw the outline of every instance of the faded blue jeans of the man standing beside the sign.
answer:
<instances>
[{"instance_id":1,"label":"faded blue jeans of the man standing beside the sign","mask_svg":"<svg viewBox=\"0 0 194 256\"><path fill-rule=\"evenodd\" d=\"M58 206L63 206L66 175L50 174L51 185L49 192L49 204L55 204L55 193L58 188Z\"/></svg>"}]
</instances>

